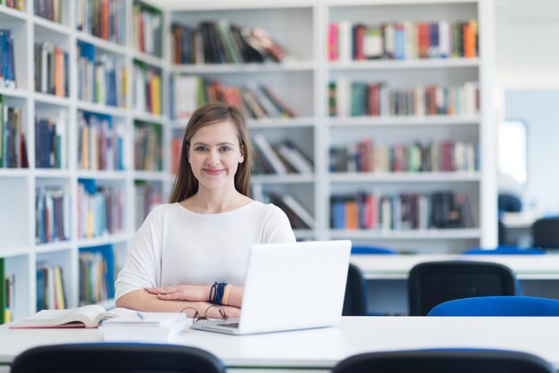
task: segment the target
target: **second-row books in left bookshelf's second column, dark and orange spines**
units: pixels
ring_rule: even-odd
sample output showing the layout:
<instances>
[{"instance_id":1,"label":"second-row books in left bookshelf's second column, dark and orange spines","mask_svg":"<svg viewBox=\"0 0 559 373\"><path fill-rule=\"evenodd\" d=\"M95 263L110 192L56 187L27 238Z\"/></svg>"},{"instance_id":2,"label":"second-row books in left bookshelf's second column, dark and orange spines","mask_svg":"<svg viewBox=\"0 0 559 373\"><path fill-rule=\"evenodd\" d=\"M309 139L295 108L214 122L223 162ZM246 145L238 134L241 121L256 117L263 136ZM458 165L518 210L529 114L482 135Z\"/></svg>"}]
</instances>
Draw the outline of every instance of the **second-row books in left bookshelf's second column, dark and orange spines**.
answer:
<instances>
[{"instance_id":1,"label":"second-row books in left bookshelf's second column, dark and orange spines","mask_svg":"<svg viewBox=\"0 0 559 373\"><path fill-rule=\"evenodd\" d=\"M35 44L35 91L67 97L70 94L68 52L54 43Z\"/></svg>"}]
</instances>

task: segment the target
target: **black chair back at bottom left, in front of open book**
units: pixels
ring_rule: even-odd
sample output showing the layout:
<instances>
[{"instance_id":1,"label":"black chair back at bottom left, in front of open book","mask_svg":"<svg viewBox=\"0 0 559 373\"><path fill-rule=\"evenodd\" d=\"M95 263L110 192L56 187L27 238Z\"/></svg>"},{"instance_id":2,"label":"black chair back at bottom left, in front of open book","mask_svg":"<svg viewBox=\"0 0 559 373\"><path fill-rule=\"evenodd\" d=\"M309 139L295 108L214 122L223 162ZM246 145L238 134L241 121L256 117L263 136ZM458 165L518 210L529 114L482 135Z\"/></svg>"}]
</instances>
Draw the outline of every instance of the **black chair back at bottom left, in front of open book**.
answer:
<instances>
[{"instance_id":1,"label":"black chair back at bottom left, in front of open book","mask_svg":"<svg viewBox=\"0 0 559 373\"><path fill-rule=\"evenodd\" d=\"M212 353L171 344L54 344L21 352L12 373L225 373Z\"/></svg>"}]
</instances>

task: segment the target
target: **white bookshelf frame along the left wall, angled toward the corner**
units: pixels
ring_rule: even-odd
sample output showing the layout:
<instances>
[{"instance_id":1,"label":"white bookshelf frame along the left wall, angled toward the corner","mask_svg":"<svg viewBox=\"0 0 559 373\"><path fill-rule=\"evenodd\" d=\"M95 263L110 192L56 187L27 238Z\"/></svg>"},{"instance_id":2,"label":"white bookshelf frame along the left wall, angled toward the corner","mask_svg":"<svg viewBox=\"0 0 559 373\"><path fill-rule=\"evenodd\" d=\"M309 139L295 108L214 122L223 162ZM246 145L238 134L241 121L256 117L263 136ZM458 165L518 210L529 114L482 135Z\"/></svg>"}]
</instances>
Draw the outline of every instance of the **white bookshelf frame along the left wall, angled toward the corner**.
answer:
<instances>
[{"instance_id":1,"label":"white bookshelf frame along the left wall, angled toward the corner","mask_svg":"<svg viewBox=\"0 0 559 373\"><path fill-rule=\"evenodd\" d=\"M163 104L163 113L154 115L149 112L137 112L132 105L132 82L129 76L129 95L123 107L94 104L78 98L77 83L77 44L85 42L96 47L96 53L111 54L120 59L129 74L133 62L141 61L162 70L162 90L167 91L167 72L170 63L163 50L162 57L138 52L131 44L117 45L99 37L76 29L77 2L62 0L62 23L56 23L33 14L33 1L25 1L25 10L18 11L0 4L0 28L13 29L15 43L15 69L17 88L0 87L4 103L19 106L23 112L22 131L26 135L29 169L0 169L0 257L5 258L6 274L15 274L15 304L13 319L21 319L37 311L36 271L38 263L60 265L63 269L63 286L67 307L77 307L79 303L79 249L99 245L113 245L116 269L121 268L128 250L129 242L136 227L133 200L134 180L147 179L159 183L164 193L169 193L170 174L167 172L168 154L163 153L161 171L142 172L133 167L133 123L143 120L162 126L162 148L164 139L169 137L170 120L167 107ZM124 0L126 13L131 13L133 1ZM131 16L127 15L125 35L127 40L132 35ZM69 95L60 97L35 92L34 87L34 49L35 43L49 41L55 43L69 54L70 84ZM163 43L163 41L162 41ZM52 112L66 112L66 149L65 167L63 169L41 169L35 164L35 116L48 117ZM78 112L95 112L113 117L113 124L122 126L124 140L125 170L82 170L78 164ZM79 237L77 232L77 196L78 180L95 179L97 185L118 186L121 188L123 209L123 228L113 234L104 234L93 238ZM35 189L40 186L60 187L70 196L70 232L68 240L46 244L35 241ZM115 272L116 273L116 272ZM111 304L109 300L106 304Z\"/></svg>"}]
</instances>

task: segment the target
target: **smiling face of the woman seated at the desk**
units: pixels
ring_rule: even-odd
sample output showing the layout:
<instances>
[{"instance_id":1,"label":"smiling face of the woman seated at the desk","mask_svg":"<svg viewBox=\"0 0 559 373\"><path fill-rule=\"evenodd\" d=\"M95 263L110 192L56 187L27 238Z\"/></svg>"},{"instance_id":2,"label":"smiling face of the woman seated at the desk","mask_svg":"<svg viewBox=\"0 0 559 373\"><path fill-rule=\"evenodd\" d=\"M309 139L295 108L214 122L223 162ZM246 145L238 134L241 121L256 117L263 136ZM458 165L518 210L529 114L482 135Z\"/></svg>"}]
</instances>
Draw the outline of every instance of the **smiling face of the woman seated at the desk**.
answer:
<instances>
[{"instance_id":1,"label":"smiling face of the woman seated at the desk","mask_svg":"<svg viewBox=\"0 0 559 373\"><path fill-rule=\"evenodd\" d=\"M243 161L237 128L230 120L200 128L190 139L188 162L199 188L235 188L235 173Z\"/></svg>"}]
</instances>

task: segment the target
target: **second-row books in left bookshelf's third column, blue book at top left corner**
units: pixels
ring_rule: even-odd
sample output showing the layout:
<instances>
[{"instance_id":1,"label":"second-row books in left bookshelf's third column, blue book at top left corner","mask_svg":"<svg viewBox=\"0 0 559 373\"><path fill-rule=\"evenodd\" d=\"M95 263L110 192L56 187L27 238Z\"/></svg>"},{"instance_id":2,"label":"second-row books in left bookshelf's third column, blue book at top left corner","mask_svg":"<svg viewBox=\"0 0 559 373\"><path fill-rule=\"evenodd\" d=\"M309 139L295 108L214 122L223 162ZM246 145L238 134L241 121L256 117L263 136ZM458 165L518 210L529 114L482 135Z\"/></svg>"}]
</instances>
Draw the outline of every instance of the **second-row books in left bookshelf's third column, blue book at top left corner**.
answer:
<instances>
[{"instance_id":1,"label":"second-row books in left bookshelf's third column, blue book at top left corner","mask_svg":"<svg viewBox=\"0 0 559 373\"><path fill-rule=\"evenodd\" d=\"M78 43L78 98L95 104L126 107L128 72L125 62L96 47Z\"/></svg>"}]
</instances>

